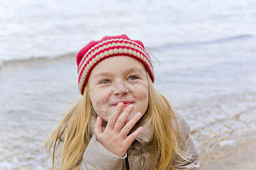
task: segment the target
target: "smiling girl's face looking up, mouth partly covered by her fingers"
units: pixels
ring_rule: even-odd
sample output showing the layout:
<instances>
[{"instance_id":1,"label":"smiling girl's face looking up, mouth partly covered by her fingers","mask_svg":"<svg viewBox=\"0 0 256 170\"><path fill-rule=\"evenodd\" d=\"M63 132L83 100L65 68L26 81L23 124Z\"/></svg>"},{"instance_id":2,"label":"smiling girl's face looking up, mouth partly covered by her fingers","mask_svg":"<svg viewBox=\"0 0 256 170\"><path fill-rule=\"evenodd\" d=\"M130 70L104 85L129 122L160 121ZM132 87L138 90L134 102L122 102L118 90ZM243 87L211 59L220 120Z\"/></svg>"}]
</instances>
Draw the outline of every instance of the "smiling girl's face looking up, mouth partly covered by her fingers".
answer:
<instances>
[{"instance_id":1,"label":"smiling girl's face looking up, mouth partly covered by her fingers","mask_svg":"<svg viewBox=\"0 0 256 170\"><path fill-rule=\"evenodd\" d=\"M132 57L115 56L98 63L90 73L88 87L94 111L106 122L119 102L124 104L122 112L129 104L134 105L125 124L137 112L143 116L147 110L146 69Z\"/></svg>"}]
</instances>

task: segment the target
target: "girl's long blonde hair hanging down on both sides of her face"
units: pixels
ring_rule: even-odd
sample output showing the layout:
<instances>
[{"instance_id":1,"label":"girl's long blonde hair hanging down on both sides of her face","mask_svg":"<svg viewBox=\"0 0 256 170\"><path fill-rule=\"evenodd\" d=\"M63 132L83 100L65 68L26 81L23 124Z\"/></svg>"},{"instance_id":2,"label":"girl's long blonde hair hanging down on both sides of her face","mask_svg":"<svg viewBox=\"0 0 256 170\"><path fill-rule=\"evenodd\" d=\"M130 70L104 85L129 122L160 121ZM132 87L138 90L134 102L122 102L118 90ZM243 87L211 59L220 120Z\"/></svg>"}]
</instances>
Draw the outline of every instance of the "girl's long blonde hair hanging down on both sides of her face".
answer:
<instances>
[{"instance_id":1,"label":"girl's long blonde hair hanging down on both sides of her face","mask_svg":"<svg viewBox=\"0 0 256 170\"><path fill-rule=\"evenodd\" d=\"M174 156L184 158L177 145L180 140L179 127L175 113L168 100L157 92L147 73L148 81L148 108L143 117L150 116L154 135L151 143L152 169L166 169L171 167ZM57 129L51 133L45 143L45 148L52 155L52 169L79 169L82 155L92 138L90 120L97 117L89 98L88 86L85 86L84 97L65 115ZM176 127L172 125L175 120ZM60 164L55 168L55 150L57 141L65 131L64 145L61 152ZM52 149L52 154L51 154Z\"/></svg>"}]
</instances>

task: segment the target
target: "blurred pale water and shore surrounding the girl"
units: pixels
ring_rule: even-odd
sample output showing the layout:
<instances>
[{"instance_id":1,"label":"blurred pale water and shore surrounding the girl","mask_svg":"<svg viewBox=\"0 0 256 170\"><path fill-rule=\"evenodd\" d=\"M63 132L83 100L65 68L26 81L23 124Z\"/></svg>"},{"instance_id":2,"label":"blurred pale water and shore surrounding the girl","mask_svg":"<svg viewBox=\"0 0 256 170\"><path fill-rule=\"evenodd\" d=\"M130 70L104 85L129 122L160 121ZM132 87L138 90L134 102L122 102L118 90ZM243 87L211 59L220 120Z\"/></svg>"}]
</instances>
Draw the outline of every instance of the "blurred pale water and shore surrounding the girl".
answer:
<instances>
[{"instance_id":1,"label":"blurred pale water and shore surrounding the girl","mask_svg":"<svg viewBox=\"0 0 256 170\"><path fill-rule=\"evenodd\" d=\"M0 0L0 169L51 167L43 142L81 97L76 53L123 33L150 53L202 169L253 169L255 25L254 0Z\"/></svg>"}]
</instances>

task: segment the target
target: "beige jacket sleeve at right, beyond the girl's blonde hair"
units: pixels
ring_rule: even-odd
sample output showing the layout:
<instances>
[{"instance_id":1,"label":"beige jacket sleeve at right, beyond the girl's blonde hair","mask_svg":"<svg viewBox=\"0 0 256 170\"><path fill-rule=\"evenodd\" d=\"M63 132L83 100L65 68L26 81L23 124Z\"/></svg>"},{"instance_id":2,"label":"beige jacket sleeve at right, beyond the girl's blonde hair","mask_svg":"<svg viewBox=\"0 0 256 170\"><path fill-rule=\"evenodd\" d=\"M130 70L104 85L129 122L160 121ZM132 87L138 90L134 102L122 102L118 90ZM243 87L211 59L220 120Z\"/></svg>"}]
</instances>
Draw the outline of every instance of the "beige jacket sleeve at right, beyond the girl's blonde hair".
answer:
<instances>
[{"instance_id":1,"label":"beige jacket sleeve at right, beyond the girl's blonde hair","mask_svg":"<svg viewBox=\"0 0 256 170\"><path fill-rule=\"evenodd\" d=\"M184 142L180 143L180 148L183 152L185 152L185 157L181 158L180 156L176 156L176 161L173 163L176 169L189 169L189 170L199 170L199 155L196 152L196 147L193 142L190 132L190 126L185 121L184 117L181 114L177 116L177 122L179 122L179 128L181 136L184 138Z\"/></svg>"}]
</instances>

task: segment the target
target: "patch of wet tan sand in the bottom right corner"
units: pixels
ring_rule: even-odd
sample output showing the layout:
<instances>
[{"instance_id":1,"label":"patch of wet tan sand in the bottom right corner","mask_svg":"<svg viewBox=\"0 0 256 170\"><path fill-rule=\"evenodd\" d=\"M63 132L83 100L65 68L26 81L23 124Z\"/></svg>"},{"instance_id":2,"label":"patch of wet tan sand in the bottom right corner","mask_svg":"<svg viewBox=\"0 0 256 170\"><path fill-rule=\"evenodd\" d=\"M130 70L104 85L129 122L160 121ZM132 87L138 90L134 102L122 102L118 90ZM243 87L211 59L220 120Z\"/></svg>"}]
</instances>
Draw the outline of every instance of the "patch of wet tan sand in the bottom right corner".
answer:
<instances>
[{"instance_id":1,"label":"patch of wet tan sand in the bottom right corner","mask_svg":"<svg viewBox=\"0 0 256 170\"><path fill-rule=\"evenodd\" d=\"M212 153L199 153L201 169L256 169L255 134L256 131L247 133L237 146L217 147Z\"/></svg>"}]
</instances>

